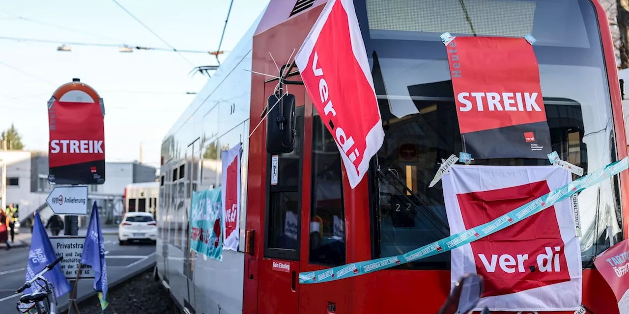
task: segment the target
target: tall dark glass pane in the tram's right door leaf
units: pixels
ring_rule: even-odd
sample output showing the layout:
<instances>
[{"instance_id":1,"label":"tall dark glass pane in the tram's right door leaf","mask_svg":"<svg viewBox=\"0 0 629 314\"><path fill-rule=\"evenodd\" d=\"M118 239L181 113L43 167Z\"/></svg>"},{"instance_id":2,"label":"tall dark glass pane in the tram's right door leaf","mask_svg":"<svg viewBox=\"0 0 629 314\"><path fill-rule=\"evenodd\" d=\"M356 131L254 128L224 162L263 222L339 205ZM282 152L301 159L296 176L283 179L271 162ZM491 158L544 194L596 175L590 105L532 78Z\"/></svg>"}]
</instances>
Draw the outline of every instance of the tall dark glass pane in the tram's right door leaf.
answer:
<instances>
[{"instance_id":1,"label":"tall dark glass pane in the tram's right door leaf","mask_svg":"<svg viewBox=\"0 0 629 314\"><path fill-rule=\"evenodd\" d=\"M345 211L341 155L330 132L313 117L311 263L345 264Z\"/></svg>"}]
</instances>

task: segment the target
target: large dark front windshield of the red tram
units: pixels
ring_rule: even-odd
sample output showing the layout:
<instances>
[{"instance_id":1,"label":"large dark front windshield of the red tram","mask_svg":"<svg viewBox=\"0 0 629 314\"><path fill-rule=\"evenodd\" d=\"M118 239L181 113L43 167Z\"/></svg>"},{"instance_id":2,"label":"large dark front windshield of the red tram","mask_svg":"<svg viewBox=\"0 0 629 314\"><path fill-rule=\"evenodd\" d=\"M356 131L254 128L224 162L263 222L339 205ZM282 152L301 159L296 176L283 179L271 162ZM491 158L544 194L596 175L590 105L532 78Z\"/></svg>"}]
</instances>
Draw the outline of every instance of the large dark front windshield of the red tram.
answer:
<instances>
[{"instance_id":1,"label":"large dark front windshield of the red tram","mask_svg":"<svg viewBox=\"0 0 629 314\"><path fill-rule=\"evenodd\" d=\"M443 32L531 33L537 38L533 50L552 150L586 173L617 160L598 19L589 0L365 0L355 6L386 133L377 161L389 179L371 176L379 190L374 257L408 252L449 235L442 185L428 188L441 159L462 151ZM523 159L473 163L550 165ZM607 229L616 241L622 238L617 182L579 193L584 266L609 246ZM444 253L398 268L448 269L449 264L450 254Z\"/></svg>"}]
</instances>

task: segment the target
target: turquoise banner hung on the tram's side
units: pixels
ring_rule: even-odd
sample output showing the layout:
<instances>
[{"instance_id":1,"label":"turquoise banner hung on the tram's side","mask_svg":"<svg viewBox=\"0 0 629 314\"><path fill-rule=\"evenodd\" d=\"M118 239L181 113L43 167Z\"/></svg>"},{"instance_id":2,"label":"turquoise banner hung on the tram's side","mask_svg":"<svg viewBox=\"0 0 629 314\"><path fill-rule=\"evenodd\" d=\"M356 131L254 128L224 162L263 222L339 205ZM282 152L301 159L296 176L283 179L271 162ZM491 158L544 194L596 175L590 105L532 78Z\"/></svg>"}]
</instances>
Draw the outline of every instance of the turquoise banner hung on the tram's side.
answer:
<instances>
[{"instance_id":1,"label":"turquoise banner hung on the tram's side","mask_svg":"<svg viewBox=\"0 0 629 314\"><path fill-rule=\"evenodd\" d=\"M221 188L192 192L190 249L223 261Z\"/></svg>"}]
</instances>

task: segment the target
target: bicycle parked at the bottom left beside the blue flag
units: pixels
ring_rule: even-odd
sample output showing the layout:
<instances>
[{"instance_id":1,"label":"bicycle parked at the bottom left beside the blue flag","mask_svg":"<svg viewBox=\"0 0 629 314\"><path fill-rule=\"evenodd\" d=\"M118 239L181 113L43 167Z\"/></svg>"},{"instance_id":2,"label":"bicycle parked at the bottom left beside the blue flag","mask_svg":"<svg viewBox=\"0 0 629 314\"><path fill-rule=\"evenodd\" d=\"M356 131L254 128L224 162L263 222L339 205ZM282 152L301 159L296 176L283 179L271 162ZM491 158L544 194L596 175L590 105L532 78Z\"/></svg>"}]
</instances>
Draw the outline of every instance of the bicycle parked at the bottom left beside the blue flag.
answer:
<instances>
[{"instance_id":1,"label":"bicycle parked at the bottom left beside the blue flag","mask_svg":"<svg viewBox=\"0 0 629 314\"><path fill-rule=\"evenodd\" d=\"M16 306L18 311L21 313L58 314L55 287L52 283L49 283L43 275L54 268L55 265L63 259L63 256L57 257L55 261L48 264L44 269L42 269L42 271L40 271L40 273L33 276L33 279L30 279L23 286L19 287L17 291L15 291L15 293L21 293L22 291L31 288L33 283L38 285L33 289L33 293L23 295L19 298L18 305ZM43 281L43 284L39 281ZM36 312L33 312L33 310L36 310Z\"/></svg>"}]
</instances>

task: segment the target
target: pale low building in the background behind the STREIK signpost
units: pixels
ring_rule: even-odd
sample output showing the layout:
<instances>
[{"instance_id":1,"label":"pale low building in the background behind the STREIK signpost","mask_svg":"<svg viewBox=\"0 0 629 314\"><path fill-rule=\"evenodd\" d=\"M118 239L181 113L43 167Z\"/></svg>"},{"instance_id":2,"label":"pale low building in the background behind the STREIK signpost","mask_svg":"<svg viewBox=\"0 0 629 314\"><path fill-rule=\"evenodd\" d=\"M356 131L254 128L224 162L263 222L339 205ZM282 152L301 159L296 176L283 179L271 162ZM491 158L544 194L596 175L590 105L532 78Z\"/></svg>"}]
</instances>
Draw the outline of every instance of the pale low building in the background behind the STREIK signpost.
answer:
<instances>
[{"instance_id":1,"label":"pale low building in the background behind the STREIK signpost","mask_svg":"<svg viewBox=\"0 0 629 314\"><path fill-rule=\"evenodd\" d=\"M6 204L18 205L20 221L35 210L39 210L46 221L52 215L46 203L51 190L48 183L48 154L39 151L0 151L0 160L6 163ZM105 183L89 187L88 212L92 201L96 200L103 224L115 223L116 216L123 212L126 185L155 181L155 173L155 167L137 162L106 163ZM82 220L79 219L79 224Z\"/></svg>"}]
</instances>

